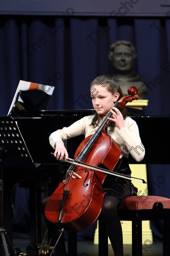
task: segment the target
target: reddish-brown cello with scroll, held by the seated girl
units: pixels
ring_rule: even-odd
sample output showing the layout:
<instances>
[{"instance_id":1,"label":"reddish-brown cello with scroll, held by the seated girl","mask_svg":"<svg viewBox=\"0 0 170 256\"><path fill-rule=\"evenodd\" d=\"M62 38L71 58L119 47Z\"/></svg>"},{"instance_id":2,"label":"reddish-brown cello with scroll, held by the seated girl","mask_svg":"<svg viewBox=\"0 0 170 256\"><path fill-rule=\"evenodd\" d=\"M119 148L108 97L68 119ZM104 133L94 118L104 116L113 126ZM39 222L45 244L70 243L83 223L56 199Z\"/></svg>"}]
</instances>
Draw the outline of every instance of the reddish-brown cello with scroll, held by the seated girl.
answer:
<instances>
[{"instance_id":1,"label":"reddish-brown cello with scroll, held by the seated girl","mask_svg":"<svg viewBox=\"0 0 170 256\"><path fill-rule=\"evenodd\" d=\"M135 87L129 87L127 92L131 96L122 97L114 107L123 109L127 102L138 99ZM96 132L81 142L65 182L59 184L46 204L46 219L66 231L85 229L97 219L105 194L102 190L107 175L105 172L125 179L132 178L113 172L121 155L121 147L106 133L109 125L107 117L111 116L109 112ZM145 183L144 180L142 182Z\"/></svg>"}]
</instances>

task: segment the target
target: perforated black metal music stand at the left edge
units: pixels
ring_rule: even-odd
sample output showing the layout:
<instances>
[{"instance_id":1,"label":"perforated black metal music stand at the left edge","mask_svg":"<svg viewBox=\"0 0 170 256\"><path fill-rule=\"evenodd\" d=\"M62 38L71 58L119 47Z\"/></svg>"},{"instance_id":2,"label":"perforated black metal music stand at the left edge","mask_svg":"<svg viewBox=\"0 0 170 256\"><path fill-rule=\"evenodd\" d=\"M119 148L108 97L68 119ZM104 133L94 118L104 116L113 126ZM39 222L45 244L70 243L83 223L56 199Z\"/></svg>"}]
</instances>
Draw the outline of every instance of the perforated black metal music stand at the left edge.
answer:
<instances>
[{"instance_id":1,"label":"perforated black metal music stand at the left edge","mask_svg":"<svg viewBox=\"0 0 170 256\"><path fill-rule=\"evenodd\" d=\"M4 246L6 256L9 256L9 249L14 256L15 250L7 236L7 230L3 226L3 167L38 167L39 163L34 163L26 147L24 139L20 133L17 122L10 116L0 117L0 165L2 165L1 189L0 189L0 236Z\"/></svg>"}]
</instances>

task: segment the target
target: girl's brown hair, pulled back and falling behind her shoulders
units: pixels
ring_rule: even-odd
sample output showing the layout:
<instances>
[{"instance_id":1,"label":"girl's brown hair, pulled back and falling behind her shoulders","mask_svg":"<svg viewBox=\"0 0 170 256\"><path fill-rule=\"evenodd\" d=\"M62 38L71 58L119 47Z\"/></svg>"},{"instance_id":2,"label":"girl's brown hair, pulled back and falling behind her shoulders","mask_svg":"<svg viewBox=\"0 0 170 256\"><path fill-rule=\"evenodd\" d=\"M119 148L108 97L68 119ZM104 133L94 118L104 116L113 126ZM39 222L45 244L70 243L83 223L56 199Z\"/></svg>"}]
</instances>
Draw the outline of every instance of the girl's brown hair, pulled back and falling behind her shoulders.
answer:
<instances>
[{"instance_id":1,"label":"girl's brown hair, pulled back and falling behind her shoulders","mask_svg":"<svg viewBox=\"0 0 170 256\"><path fill-rule=\"evenodd\" d=\"M102 85L102 86L106 87L107 91L109 91L113 95L118 92L119 93L118 100L121 97L123 97L121 87L118 85L117 81L114 78L109 78L106 75L98 76L91 82L90 89L94 85ZM125 119L127 117L126 108L124 108L123 110L120 110L120 112L122 113L123 118ZM101 116L97 112L95 112L91 125L96 127L96 126L99 126L100 122L101 122ZM114 122L110 121L109 123L111 124L111 126L115 126Z\"/></svg>"}]
</instances>

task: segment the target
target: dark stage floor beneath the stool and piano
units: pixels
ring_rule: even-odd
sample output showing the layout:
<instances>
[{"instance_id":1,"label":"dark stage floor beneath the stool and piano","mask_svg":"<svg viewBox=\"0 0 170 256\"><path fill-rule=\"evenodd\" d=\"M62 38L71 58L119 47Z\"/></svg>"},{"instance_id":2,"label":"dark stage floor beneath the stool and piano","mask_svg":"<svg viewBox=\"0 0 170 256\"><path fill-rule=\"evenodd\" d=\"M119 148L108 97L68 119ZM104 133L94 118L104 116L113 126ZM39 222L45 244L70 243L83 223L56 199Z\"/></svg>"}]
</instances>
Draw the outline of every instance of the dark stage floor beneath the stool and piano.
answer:
<instances>
[{"instance_id":1,"label":"dark stage floor beneath the stool and piano","mask_svg":"<svg viewBox=\"0 0 170 256\"><path fill-rule=\"evenodd\" d=\"M29 244L29 240L13 239L13 244L14 244L14 247L19 247L23 253L23 252L26 252L25 248ZM66 242L66 246L67 246L67 242ZM109 256L114 256L111 245L109 245L108 248L109 248ZM155 242L151 245L150 248L143 246L142 253L143 253L143 256L162 256L162 243ZM129 256L132 255L131 245L124 245L124 256L128 256L128 255ZM170 255L170 251L167 252L167 256L168 255ZM93 241L78 241L77 256L98 256L98 245L94 245Z\"/></svg>"}]
</instances>

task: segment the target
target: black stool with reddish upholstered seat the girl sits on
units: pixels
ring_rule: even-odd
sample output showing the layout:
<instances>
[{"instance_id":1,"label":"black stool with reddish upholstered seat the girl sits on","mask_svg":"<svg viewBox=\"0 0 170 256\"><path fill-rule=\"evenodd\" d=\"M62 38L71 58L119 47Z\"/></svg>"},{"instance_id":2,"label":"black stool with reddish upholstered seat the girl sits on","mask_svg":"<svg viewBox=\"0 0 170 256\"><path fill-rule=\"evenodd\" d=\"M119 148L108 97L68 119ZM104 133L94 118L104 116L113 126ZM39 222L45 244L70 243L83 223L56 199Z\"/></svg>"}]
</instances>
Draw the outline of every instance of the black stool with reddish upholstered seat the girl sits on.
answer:
<instances>
[{"instance_id":1,"label":"black stool with reddish upholstered seat the girl sits on","mask_svg":"<svg viewBox=\"0 0 170 256\"><path fill-rule=\"evenodd\" d=\"M142 220L164 220L163 256L169 255L170 199L158 196L126 197L118 207L120 220L132 222L132 256L142 254ZM116 232L116 230L114 230ZM149 248L149 247L148 247ZM149 250L149 249L148 249ZM108 238L102 217L99 218L99 256L108 255Z\"/></svg>"}]
</instances>

